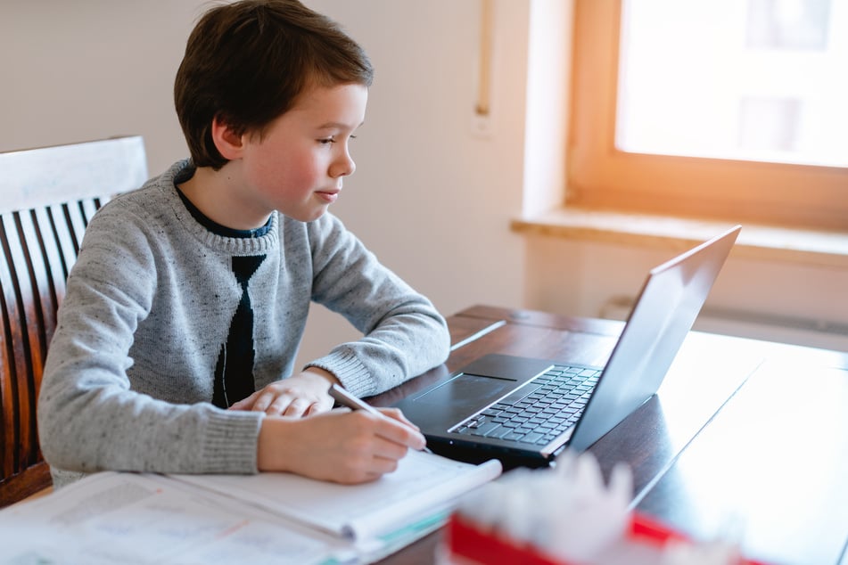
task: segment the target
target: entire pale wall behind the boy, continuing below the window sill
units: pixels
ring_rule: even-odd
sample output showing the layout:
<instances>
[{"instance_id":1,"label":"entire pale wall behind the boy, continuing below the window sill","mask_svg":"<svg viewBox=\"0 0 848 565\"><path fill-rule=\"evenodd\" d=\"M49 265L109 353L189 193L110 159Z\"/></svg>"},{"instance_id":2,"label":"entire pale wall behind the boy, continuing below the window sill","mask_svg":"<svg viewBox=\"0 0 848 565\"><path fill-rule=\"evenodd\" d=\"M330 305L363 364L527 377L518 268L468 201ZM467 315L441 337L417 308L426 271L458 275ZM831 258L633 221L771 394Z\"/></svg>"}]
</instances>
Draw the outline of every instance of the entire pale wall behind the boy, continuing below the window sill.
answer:
<instances>
[{"instance_id":1,"label":"entire pale wall behind the boy, continuing below the window sill","mask_svg":"<svg viewBox=\"0 0 848 565\"><path fill-rule=\"evenodd\" d=\"M562 119L556 101L568 73L563 61L544 61L539 50L556 41L536 33L567 18L570 3L495 0L491 135L483 137L472 127L479 0L307 4L339 20L376 70L355 142L358 171L333 211L443 312L490 303L597 315L606 299L633 294L647 268L671 256L509 231L511 218L556 200L563 176L556 157L564 154L563 130L550 125ZM0 151L141 134L151 174L185 157L171 89L185 38L207 5L0 4ZM560 41L570 44L567 35ZM556 95L545 90L546 63ZM540 184L543 192L524 192ZM845 288L844 271L733 262L711 301L848 322ZM352 337L346 323L316 309L301 356Z\"/></svg>"}]
</instances>

